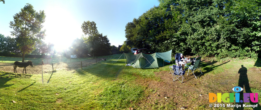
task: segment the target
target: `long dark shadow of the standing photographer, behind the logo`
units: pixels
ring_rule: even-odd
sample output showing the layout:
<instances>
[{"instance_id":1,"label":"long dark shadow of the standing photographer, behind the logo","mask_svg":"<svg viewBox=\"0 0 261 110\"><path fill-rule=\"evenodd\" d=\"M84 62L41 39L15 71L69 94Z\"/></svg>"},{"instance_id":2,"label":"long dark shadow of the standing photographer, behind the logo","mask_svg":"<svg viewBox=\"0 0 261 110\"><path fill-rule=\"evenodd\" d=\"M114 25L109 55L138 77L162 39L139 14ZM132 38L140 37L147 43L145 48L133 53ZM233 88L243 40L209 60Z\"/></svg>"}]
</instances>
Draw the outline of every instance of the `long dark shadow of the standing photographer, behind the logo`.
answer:
<instances>
[{"instance_id":1,"label":"long dark shadow of the standing photographer, behind the logo","mask_svg":"<svg viewBox=\"0 0 261 110\"><path fill-rule=\"evenodd\" d=\"M239 79L238 79L238 86L242 87L245 89L246 93L252 93L251 89L250 89L250 86L249 86L249 80L248 80L248 75L247 75L247 68L244 67L244 65L241 65L241 68L238 70L238 74L239 74ZM244 101L244 97L243 97L243 91L239 92L240 93L240 101ZM256 99L258 97L255 97L255 100L258 100ZM251 105L257 105L256 108L253 108L253 110L260 110L261 107L259 105L259 103L253 103L252 101L249 101ZM243 110L244 107L243 107L243 104L244 103L236 103L238 105L241 105L241 108L234 108L234 110Z\"/></svg>"}]
</instances>

